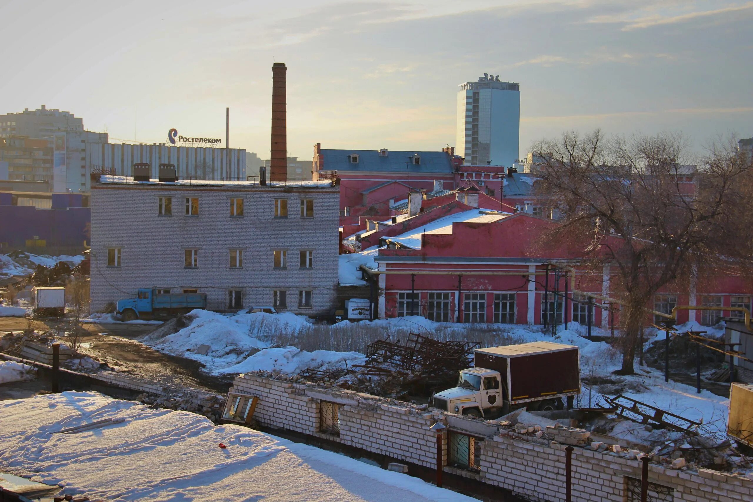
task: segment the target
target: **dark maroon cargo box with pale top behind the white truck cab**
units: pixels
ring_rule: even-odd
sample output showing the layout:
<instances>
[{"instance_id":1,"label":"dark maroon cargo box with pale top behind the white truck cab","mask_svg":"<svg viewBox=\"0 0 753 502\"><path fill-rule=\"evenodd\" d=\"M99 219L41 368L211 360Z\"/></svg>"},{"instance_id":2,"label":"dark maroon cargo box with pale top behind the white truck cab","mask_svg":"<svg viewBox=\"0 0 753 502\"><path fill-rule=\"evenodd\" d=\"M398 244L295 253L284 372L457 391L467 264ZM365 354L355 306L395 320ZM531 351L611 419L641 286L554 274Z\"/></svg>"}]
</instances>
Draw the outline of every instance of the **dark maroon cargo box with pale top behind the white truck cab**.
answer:
<instances>
[{"instance_id":1,"label":"dark maroon cargo box with pale top behind the white truck cab","mask_svg":"<svg viewBox=\"0 0 753 502\"><path fill-rule=\"evenodd\" d=\"M477 348L474 365L501 373L510 403L581 391L578 347L553 342L530 342Z\"/></svg>"}]
</instances>

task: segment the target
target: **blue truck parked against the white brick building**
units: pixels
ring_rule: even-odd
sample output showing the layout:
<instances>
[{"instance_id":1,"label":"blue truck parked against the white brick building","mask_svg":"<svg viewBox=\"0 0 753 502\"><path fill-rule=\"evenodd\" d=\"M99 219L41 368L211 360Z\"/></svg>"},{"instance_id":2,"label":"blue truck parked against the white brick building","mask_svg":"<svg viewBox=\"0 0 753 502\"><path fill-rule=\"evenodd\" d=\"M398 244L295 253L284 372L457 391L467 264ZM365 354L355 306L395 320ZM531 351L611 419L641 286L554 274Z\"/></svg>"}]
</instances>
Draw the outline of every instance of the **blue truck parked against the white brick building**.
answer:
<instances>
[{"instance_id":1,"label":"blue truck parked against the white brick building","mask_svg":"<svg viewBox=\"0 0 753 502\"><path fill-rule=\"evenodd\" d=\"M117 300L116 313L123 321L133 321L186 314L194 309L206 309L206 294L157 294L156 289L139 289L136 298Z\"/></svg>"}]
</instances>

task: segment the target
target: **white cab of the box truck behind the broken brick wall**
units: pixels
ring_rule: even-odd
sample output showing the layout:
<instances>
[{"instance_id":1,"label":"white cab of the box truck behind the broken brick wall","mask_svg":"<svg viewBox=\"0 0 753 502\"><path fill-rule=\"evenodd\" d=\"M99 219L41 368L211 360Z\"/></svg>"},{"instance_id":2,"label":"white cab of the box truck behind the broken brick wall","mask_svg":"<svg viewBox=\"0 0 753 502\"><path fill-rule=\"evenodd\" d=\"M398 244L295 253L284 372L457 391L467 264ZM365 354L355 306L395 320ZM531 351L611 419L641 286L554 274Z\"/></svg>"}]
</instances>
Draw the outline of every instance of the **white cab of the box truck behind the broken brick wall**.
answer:
<instances>
[{"instance_id":1,"label":"white cab of the box truck behind the broken brick wall","mask_svg":"<svg viewBox=\"0 0 753 502\"><path fill-rule=\"evenodd\" d=\"M503 406L501 375L486 368L462 370L455 387L434 394L435 408L462 415L483 417Z\"/></svg>"}]
</instances>

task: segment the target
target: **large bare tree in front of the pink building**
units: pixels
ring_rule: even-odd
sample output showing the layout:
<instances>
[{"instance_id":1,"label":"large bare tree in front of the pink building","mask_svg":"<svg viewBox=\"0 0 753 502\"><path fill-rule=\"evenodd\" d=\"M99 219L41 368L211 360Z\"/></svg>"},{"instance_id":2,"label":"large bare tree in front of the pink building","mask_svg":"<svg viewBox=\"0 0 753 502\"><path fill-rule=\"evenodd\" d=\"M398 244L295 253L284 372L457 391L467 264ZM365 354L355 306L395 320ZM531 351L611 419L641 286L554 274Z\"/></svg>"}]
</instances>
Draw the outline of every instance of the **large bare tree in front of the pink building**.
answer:
<instances>
[{"instance_id":1,"label":"large bare tree in front of the pink building","mask_svg":"<svg viewBox=\"0 0 753 502\"><path fill-rule=\"evenodd\" d=\"M645 309L660 288L699 267L749 268L749 230L734 214L750 212L751 166L733 141L712 145L697 165L681 134L566 132L532 151L543 159L535 186L559 213L547 239L577 243L584 266L611 266L611 290L623 301L621 373L634 371Z\"/></svg>"}]
</instances>

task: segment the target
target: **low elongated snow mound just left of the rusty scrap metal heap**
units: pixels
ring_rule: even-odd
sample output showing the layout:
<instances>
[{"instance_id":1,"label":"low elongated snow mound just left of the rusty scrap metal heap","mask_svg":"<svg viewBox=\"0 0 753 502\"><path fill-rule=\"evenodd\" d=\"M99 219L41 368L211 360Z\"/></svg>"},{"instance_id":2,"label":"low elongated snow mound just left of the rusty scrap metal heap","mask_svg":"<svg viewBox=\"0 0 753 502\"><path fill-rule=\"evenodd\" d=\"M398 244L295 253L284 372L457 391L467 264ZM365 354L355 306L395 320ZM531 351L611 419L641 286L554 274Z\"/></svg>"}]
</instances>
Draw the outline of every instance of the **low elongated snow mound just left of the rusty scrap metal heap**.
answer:
<instances>
[{"instance_id":1,"label":"low elongated snow mound just left of the rusty scrap metal heap","mask_svg":"<svg viewBox=\"0 0 753 502\"><path fill-rule=\"evenodd\" d=\"M295 347L264 348L239 364L218 370L217 373L249 373L252 371L279 371L296 374L307 368L314 370L337 370L364 364L366 356L360 352L313 351L306 352Z\"/></svg>"}]
</instances>

